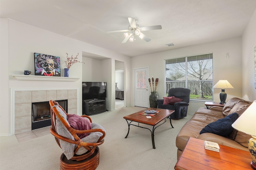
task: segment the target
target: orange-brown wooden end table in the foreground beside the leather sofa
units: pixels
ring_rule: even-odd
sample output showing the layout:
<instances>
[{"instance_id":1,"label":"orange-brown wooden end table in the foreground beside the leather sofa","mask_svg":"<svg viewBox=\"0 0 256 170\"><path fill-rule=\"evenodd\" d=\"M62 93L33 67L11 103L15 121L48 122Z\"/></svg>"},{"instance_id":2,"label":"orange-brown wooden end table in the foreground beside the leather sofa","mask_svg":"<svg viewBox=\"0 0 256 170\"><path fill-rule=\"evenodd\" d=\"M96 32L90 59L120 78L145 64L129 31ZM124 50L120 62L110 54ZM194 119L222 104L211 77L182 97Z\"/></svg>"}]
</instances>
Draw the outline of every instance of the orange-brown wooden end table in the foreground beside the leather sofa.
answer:
<instances>
[{"instance_id":1,"label":"orange-brown wooden end table in the foreground beside the leather sofa","mask_svg":"<svg viewBox=\"0 0 256 170\"><path fill-rule=\"evenodd\" d=\"M252 170L250 152L220 146L220 152L204 149L204 141L190 137L175 170Z\"/></svg>"}]
</instances>

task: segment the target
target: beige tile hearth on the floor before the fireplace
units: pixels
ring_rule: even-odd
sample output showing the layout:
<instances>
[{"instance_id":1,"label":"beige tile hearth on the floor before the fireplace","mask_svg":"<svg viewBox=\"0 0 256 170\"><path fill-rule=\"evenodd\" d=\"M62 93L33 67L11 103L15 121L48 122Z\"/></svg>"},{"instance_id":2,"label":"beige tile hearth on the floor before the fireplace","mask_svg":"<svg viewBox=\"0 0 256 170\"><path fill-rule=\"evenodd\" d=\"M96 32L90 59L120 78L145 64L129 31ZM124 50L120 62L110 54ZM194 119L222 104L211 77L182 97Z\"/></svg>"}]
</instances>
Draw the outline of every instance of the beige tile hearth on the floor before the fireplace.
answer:
<instances>
[{"instance_id":1,"label":"beige tile hearth on the floor before the fireplace","mask_svg":"<svg viewBox=\"0 0 256 170\"><path fill-rule=\"evenodd\" d=\"M50 130L49 130L50 127L51 126L43 127L43 128L40 128L40 129L35 129L35 130L32 130L32 131L17 134L15 136L18 139L18 142L28 141L30 139L34 139L34 138L37 138L37 137L41 137L41 136L44 136L44 135L51 134Z\"/></svg>"}]
</instances>

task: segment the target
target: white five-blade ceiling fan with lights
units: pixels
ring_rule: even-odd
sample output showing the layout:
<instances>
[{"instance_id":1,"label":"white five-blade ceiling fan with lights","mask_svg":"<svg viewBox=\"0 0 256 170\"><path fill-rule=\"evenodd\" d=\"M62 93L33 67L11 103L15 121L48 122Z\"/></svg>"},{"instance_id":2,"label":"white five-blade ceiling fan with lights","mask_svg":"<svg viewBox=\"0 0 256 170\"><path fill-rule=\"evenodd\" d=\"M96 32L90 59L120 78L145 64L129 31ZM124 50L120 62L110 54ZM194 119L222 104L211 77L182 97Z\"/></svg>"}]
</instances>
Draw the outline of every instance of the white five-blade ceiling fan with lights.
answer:
<instances>
[{"instance_id":1,"label":"white five-blade ceiling fan with lights","mask_svg":"<svg viewBox=\"0 0 256 170\"><path fill-rule=\"evenodd\" d=\"M148 31L148 30L154 30L154 29L162 29L161 25L153 25L153 26L147 26L147 27L140 27L136 22L137 20L135 18L128 18L130 25L128 26L128 29L125 30L118 30L118 31L108 31L107 33L116 33L116 32L126 32L124 33L124 40L122 43L126 43L126 41L134 41L135 35L138 35L140 39L144 39L145 41L150 41L151 39L148 38L146 35L144 35L141 31ZM127 32L128 31L128 32Z\"/></svg>"}]
</instances>

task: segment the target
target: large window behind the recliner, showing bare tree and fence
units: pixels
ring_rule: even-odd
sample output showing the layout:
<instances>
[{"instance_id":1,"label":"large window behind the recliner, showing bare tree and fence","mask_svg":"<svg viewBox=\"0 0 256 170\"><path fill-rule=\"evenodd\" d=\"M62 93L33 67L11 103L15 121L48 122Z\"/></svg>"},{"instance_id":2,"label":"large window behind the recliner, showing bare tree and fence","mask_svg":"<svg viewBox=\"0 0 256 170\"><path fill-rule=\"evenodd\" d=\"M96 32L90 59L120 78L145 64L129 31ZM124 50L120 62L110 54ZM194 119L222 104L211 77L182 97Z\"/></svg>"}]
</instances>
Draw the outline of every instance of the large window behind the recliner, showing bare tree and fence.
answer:
<instances>
[{"instance_id":1,"label":"large window behind the recliner, showing bare tree and fence","mask_svg":"<svg viewBox=\"0 0 256 170\"><path fill-rule=\"evenodd\" d=\"M166 60L166 96L170 88L191 90L190 98L213 100L213 54L194 55Z\"/></svg>"}]
</instances>

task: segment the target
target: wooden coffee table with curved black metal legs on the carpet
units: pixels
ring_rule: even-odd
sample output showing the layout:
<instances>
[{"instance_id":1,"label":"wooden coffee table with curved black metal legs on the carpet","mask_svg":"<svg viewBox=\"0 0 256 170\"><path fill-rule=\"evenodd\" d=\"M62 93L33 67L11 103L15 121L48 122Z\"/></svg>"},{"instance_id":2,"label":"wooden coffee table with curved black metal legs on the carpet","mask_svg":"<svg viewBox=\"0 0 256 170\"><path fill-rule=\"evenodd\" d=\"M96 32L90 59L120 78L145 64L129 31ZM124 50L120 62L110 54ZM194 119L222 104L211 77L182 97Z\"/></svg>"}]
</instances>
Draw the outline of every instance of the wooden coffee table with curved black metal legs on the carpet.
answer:
<instances>
[{"instance_id":1,"label":"wooden coffee table with curved black metal legs on the carpet","mask_svg":"<svg viewBox=\"0 0 256 170\"><path fill-rule=\"evenodd\" d=\"M146 115L140 115L140 113L143 113L145 110L159 110L160 112L157 113L156 115L154 115L154 117L147 118ZM128 133L127 133L125 138L127 138L128 135L129 135L130 125L134 125L134 124L132 124L132 122L137 122L138 125L134 125L134 126L141 127L141 128L144 128L144 129L148 129L148 128L140 126L140 123L143 123L143 124L146 124L146 125L151 125L151 126L153 126L152 131L150 129L148 129L148 130L150 130L150 132L151 132L151 139L152 139L153 149L156 149L155 141L154 141L154 131L157 127L164 124L169 119L170 119L170 123L171 123L171 126L172 126L172 120L171 120L171 117L170 117L170 115L172 113L174 113L174 110L158 109L158 108L150 107L150 108L144 109L142 111L138 111L136 113L133 113L131 115L124 116L124 119L128 123ZM162 120L164 120L164 122L161 123L160 125L158 125L158 123L160 123ZM130 123L128 121L130 121ZM172 126L172 128L174 128L174 127Z\"/></svg>"}]
</instances>

